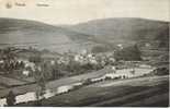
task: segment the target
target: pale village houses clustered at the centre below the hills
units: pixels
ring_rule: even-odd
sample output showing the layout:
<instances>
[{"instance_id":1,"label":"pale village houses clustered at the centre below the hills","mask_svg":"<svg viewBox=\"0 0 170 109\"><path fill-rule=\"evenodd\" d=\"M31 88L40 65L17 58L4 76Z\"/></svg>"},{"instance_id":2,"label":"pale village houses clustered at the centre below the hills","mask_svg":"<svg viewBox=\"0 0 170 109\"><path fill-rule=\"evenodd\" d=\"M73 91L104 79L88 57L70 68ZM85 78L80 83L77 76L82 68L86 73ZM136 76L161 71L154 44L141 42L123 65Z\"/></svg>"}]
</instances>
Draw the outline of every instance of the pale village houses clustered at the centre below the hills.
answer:
<instances>
[{"instance_id":1,"label":"pale village houses clustered at the centre below the hills","mask_svg":"<svg viewBox=\"0 0 170 109\"><path fill-rule=\"evenodd\" d=\"M105 53L92 53L87 50L82 50L80 53L68 53L64 55L57 59L58 64L69 64L70 61L77 62L80 65L92 64L92 65L102 65L106 63L114 63L115 59L113 57L114 52Z\"/></svg>"}]
</instances>

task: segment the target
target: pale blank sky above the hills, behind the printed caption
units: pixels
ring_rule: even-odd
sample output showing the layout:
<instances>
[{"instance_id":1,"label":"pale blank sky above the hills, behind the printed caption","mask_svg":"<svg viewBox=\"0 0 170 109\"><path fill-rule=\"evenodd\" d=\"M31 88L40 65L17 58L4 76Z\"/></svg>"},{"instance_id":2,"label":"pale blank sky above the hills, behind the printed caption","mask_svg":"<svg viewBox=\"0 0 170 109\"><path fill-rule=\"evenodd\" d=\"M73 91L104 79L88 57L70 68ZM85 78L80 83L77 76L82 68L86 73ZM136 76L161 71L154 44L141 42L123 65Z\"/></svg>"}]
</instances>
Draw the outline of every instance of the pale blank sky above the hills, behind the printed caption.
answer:
<instances>
[{"instance_id":1,"label":"pale blank sky above the hills, behind the printed caption","mask_svg":"<svg viewBox=\"0 0 170 109\"><path fill-rule=\"evenodd\" d=\"M7 2L12 7L8 9ZM25 3L16 7L15 3ZM37 7L37 3L49 7ZM141 17L170 21L170 0L0 0L0 17L48 24L77 24L95 19Z\"/></svg>"}]
</instances>

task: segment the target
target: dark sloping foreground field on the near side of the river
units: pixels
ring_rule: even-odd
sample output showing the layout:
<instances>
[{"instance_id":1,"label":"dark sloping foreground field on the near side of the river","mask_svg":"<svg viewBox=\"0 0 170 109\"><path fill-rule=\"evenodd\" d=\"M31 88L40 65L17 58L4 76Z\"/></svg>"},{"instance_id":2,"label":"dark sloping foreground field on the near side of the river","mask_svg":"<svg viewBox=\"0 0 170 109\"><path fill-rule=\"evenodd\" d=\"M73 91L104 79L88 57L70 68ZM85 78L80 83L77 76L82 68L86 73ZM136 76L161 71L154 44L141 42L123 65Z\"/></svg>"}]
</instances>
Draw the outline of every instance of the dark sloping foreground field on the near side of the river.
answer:
<instances>
[{"instance_id":1,"label":"dark sloping foreground field on the near side of the river","mask_svg":"<svg viewBox=\"0 0 170 109\"><path fill-rule=\"evenodd\" d=\"M80 89L54 96L42 106L57 107L167 107L169 102L169 76L138 77L123 81L106 81ZM35 102L19 106L35 106Z\"/></svg>"}]
</instances>

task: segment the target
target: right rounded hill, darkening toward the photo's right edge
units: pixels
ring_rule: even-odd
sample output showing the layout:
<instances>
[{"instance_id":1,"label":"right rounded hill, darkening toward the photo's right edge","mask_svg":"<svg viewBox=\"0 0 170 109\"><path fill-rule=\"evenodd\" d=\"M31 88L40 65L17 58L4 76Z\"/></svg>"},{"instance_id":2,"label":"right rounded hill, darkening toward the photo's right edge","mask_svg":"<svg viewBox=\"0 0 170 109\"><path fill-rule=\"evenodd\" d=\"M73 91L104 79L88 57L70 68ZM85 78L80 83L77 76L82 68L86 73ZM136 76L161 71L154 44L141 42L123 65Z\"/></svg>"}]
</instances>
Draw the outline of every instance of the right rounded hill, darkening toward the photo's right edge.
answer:
<instances>
[{"instance_id":1,"label":"right rounded hill, darkening toward the photo's right edge","mask_svg":"<svg viewBox=\"0 0 170 109\"><path fill-rule=\"evenodd\" d=\"M118 17L94 20L71 26L71 29L95 36L97 41L154 41L168 47L169 23L145 19Z\"/></svg>"}]
</instances>

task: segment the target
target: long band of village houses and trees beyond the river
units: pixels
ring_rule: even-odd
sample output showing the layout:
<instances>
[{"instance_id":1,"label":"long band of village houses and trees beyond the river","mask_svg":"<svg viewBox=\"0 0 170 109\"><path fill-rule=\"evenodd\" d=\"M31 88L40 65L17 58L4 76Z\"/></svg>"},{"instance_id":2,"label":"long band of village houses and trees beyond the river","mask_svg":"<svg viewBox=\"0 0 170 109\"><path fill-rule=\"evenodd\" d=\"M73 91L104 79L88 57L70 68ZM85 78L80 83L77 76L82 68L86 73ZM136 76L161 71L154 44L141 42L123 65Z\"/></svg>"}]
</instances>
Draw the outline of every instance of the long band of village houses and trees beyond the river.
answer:
<instances>
[{"instance_id":1,"label":"long band of village houses and trees beyond the river","mask_svg":"<svg viewBox=\"0 0 170 109\"><path fill-rule=\"evenodd\" d=\"M120 49L123 49L120 47ZM133 69L136 66L151 68L141 62L140 58L135 61L123 61L115 56L115 51L92 53L86 49L79 53L65 52L64 55L42 53L35 49L7 48L1 50L0 72L1 75L16 75L22 77L33 77L36 70L48 73L50 77L59 77L83 74L86 72L110 69ZM121 57L121 55L120 55ZM44 71L43 71L44 70ZM47 76L46 76L47 77Z\"/></svg>"}]
</instances>

